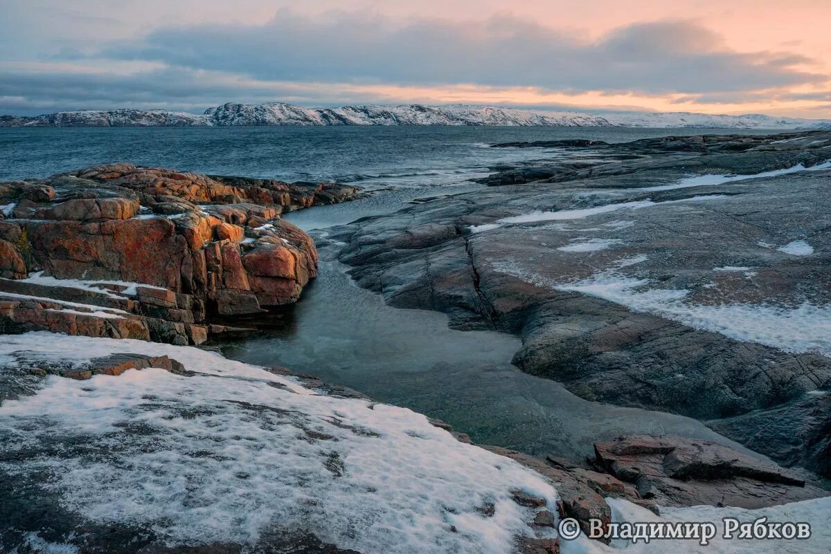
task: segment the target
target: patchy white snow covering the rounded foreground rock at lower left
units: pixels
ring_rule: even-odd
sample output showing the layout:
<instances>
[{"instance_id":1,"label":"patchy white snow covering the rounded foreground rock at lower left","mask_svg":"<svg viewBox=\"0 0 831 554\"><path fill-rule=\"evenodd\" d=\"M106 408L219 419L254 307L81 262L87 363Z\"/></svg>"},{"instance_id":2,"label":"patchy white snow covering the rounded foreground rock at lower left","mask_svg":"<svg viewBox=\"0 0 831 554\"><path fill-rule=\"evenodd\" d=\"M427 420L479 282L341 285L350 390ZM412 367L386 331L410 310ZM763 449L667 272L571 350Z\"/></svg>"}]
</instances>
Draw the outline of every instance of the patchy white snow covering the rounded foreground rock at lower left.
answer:
<instances>
[{"instance_id":1,"label":"patchy white snow covering the rounded foreground rock at lower left","mask_svg":"<svg viewBox=\"0 0 831 554\"><path fill-rule=\"evenodd\" d=\"M2 450L12 454L0 471L46 472L62 508L150 528L171 544L250 544L277 529L361 552L510 552L515 537L531 534L534 514L509 491L546 498L551 509L557 499L538 474L460 443L425 416L322 396L213 352L0 336L0 359L15 352L42 363L166 354L197 372L52 376L35 396L0 406Z\"/></svg>"}]
</instances>

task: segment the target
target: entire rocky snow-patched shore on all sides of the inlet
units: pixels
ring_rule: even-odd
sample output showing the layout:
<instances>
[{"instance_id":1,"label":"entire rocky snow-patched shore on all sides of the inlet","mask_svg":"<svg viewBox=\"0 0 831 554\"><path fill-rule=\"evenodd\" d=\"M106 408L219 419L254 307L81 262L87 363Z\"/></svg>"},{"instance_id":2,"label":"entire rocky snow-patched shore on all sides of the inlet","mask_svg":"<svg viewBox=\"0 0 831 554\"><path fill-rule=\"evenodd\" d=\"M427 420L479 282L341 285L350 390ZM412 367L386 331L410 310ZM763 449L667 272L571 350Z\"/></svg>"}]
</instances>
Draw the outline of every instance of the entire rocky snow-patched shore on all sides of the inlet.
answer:
<instances>
[{"instance_id":1,"label":"entire rocky snow-patched shore on all sides of the inlet","mask_svg":"<svg viewBox=\"0 0 831 554\"><path fill-rule=\"evenodd\" d=\"M666 435L534 458L196 348L317 275L283 211L358 192L111 164L0 183L0 550L597 554L558 521L784 503L822 527L831 349L799 324L827 325L831 134L530 147L590 155L339 228L342 260L393 305L519 334L526 372L789 468Z\"/></svg>"}]
</instances>

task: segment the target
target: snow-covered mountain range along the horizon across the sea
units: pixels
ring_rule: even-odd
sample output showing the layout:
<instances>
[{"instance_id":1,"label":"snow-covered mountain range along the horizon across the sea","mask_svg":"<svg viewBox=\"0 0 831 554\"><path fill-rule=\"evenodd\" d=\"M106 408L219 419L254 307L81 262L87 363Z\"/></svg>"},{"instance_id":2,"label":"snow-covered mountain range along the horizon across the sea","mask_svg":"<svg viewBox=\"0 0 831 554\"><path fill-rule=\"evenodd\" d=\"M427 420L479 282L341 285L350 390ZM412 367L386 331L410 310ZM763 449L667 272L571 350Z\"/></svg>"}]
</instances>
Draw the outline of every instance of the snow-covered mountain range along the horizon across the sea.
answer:
<instances>
[{"instance_id":1,"label":"snow-covered mountain range along the horizon across the sea","mask_svg":"<svg viewBox=\"0 0 831 554\"><path fill-rule=\"evenodd\" d=\"M762 114L711 115L689 112L581 114L471 106L356 105L303 108L283 102L223 104L204 114L162 109L59 112L34 117L2 115L0 127L228 127L258 125L507 125L555 127L691 127L721 129L831 129L831 119L797 119Z\"/></svg>"}]
</instances>

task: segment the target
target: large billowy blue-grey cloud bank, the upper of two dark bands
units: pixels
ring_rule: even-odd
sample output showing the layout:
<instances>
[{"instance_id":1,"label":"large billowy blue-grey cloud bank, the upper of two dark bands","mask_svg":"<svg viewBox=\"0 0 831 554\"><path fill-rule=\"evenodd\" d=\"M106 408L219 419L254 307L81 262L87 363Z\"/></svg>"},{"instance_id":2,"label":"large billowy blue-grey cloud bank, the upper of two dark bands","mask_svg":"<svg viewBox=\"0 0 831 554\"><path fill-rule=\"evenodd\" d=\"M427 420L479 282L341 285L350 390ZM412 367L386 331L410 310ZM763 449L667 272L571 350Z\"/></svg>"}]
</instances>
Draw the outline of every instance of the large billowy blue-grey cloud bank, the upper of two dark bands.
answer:
<instances>
[{"instance_id":1,"label":"large billowy blue-grey cloud bank, the upper of two dark bands","mask_svg":"<svg viewBox=\"0 0 831 554\"><path fill-rule=\"evenodd\" d=\"M158 28L101 56L219 70L259 80L533 86L543 90L705 94L828 80L787 52L740 53L696 22L619 27L588 41L509 15L484 21L365 12L279 11L263 25Z\"/></svg>"}]
</instances>

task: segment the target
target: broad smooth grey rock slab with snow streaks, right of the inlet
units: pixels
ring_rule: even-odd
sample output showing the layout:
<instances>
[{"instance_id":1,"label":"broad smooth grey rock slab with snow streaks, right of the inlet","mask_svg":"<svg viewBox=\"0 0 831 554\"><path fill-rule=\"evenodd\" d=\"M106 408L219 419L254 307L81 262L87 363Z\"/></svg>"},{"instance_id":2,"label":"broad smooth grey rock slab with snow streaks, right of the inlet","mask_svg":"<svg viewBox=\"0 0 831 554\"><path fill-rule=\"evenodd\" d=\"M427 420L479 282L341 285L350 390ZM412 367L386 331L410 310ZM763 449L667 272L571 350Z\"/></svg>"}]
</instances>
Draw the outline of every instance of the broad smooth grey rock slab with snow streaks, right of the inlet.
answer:
<instances>
[{"instance_id":1,"label":"broad smooth grey rock slab with snow streaks, right of the inlet","mask_svg":"<svg viewBox=\"0 0 831 554\"><path fill-rule=\"evenodd\" d=\"M519 334L526 372L588 400L706 420L829 476L827 405L804 399L831 388L831 134L615 151L632 159L435 199L332 237L358 284L390 304Z\"/></svg>"}]
</instances>

